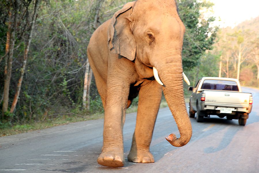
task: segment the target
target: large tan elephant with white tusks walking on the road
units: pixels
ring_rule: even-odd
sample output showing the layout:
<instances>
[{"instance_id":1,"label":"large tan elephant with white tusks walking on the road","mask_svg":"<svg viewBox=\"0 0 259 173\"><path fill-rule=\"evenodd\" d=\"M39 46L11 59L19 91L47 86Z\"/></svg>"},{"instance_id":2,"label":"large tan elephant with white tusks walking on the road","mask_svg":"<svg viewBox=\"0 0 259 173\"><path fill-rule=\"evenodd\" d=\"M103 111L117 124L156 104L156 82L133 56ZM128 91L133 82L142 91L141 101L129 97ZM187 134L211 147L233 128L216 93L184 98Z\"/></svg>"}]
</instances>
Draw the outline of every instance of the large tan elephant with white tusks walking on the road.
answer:
<instances>
[{"instance_id":1,"label":"large tan elephant with white tusks walking on the road","mask_svg":"<svg viewBox=\"0 0 259 173\"><path fill-rule=\"evenodd\" d=\"M100 165L124 166L125 113L137 96L129 161L154 162L150 143L162 93L180 132L180 138L170 134L166 140L180 147L191 139L183 89L184 32L175 0L137 0L125 4L92 34L87 56L104 107Z\"/></svg>"}]
</instances>

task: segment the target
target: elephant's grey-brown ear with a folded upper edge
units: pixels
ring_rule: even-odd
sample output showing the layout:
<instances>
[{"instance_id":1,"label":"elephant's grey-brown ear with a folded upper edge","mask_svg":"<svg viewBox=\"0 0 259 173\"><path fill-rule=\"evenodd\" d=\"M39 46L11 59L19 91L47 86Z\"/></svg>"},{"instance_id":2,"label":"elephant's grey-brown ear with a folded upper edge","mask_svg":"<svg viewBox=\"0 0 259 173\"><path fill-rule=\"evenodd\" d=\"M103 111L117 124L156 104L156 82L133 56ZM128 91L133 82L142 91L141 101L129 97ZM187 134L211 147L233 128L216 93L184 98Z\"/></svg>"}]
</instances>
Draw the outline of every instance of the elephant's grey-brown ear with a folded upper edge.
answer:
<instances>
[{"instance_id":1,"label":"elephant's grey-brown ear with a folded upper edge","mask_svg":"<svg viewBox=\"0 0 259 173\"><path fill-rule=\"evenodd\" d=\"M136 41L130 28L129 20L132 6L135 2L129 2L117 11L111 19L108 29L108 48L111 54L120 54L130 61L135 59Z\"/></svg>"}]
</instances>

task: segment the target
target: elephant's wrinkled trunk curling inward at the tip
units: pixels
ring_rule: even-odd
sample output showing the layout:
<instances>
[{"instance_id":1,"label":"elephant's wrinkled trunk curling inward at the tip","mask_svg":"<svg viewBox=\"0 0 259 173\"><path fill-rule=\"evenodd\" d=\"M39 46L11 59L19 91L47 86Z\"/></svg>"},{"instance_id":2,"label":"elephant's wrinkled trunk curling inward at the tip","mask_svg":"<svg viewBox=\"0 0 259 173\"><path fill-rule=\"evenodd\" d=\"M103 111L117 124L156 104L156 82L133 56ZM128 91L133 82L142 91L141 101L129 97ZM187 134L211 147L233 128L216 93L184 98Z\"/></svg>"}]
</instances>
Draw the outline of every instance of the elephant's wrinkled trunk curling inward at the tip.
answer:
<instances>
[{"instance_id":1,"label":"elephant's wrinkled trunk curling inward at the tip","mask_svg":"<svg viewBox=\"0 0 259 173\"><path fill-rule=\"evenodd\" d=\"M186 145L192 136L191 121L184 100L182 64L166 64L164 67L166 66L167 68L159 68L159 77L164 84L162 87L165 99L180 132L180 138L170 134L166 139L173 146L180 147Z\"/></svg>"}]
</instances>

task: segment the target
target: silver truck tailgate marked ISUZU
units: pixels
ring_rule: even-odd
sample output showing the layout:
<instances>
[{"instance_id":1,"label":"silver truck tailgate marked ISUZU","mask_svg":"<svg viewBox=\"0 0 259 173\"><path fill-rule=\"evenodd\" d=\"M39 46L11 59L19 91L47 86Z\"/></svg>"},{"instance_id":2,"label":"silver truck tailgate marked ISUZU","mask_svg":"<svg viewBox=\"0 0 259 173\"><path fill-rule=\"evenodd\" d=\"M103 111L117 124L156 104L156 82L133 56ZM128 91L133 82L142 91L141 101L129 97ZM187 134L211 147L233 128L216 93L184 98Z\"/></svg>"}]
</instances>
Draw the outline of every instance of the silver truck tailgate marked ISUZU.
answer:
<instances>
[{"instance_id":1,"label":"silver truck tailgate marked ISUZU","mask_svg":"<svg viewBox=\"0 0 259 173\"><path fill-rule=\"evenodd\" d=\"M227 91L203 91L206 104L249 105L250 93Z\"/></svg>"}]
</instances>

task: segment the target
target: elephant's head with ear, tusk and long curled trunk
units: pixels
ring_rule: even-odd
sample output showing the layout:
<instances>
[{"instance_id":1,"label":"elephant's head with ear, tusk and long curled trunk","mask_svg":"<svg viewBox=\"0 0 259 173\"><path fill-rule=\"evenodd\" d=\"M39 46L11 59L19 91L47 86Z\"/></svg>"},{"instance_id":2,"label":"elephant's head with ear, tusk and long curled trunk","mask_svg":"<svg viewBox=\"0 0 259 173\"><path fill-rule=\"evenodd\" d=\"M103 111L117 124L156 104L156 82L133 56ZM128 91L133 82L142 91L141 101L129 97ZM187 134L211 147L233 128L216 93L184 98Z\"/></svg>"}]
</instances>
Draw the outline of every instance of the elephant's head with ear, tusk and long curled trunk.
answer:
<instances>
[{"instance_id":1,"label":"elephant's head with ear, tusk and long curled trunk","mask_svg":"<svg viewBox=\"0 0 259 173\"><path fill-rule=\"evenodd\" d=\"M187 144L192 136L182 80L184 32L174 0L127 3L114 14L108 31L112 54L133 61L140 77L155 76L163 85L165 99L180 132L180 138L171 134L166 139L177 147Z\"/></svg>"}]
</instances>

